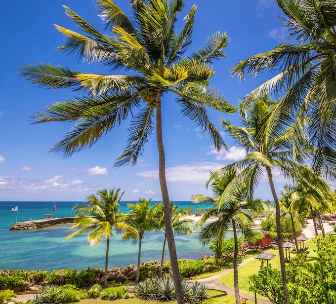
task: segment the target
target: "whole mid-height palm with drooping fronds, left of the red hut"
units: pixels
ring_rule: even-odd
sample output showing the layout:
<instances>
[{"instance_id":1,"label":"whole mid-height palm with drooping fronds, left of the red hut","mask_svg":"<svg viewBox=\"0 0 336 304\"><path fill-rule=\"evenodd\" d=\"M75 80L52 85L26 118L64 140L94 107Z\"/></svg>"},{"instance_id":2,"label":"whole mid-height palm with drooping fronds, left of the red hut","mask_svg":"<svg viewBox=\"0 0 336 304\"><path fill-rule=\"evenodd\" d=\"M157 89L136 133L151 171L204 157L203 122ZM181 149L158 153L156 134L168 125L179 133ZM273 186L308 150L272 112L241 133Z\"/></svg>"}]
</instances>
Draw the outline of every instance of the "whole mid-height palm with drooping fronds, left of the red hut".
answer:
<instances>
[{"instance_id":1,"label":"whole mid-height palm with drooping fronds, left of the red hut","mask_svg":"<svg viewBox=\"0 0 336 304\"><path fill-rule=\"evenodd\" d=\"M263 209L260 199L251 199L248 194L247 185L241 183L240 190L234 194L230 190L231 183L237 175L237 170L226 171L224 174L213 174L210 180L213 197L202 194L193 195L192 199L197 203L212 203L210 210L201 217L197 226L201 226L199 239L206 246L210 241L216 241L216 257L220 258L220 248L227 231L232 227L235 241L235 252L233 258L234 288L236 303L240 304L239 283L238 283L238 235L237 230L249 233L253 225L251 213ZM207 220L215 217L210 223Z\"/></svg>"}]
</instances>

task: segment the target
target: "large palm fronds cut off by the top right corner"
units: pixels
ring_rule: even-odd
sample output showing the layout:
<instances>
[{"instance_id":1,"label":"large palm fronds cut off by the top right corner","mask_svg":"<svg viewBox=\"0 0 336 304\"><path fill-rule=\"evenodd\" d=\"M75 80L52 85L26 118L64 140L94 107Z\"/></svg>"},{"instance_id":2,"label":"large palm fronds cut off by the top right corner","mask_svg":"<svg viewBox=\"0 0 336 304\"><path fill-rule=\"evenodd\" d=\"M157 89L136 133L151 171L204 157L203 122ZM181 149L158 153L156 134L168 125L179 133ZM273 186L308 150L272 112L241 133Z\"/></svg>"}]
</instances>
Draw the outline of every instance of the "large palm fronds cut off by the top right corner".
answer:
<instances>
[{"instance_id":1,"label":"large palm fronds cut off by the top right corner","mask_svg":"<svg viewBox=\"0 0 336 304\"><path fill-rule=\"evenodd\" d=\"M245 106L262 92L280 96L287 91L273 115L273 127L287 128L307 119L311 142L317 147L315 172L336 178L336 2L326 0L276 0L286 15L286 25L295 41L285 41L270 51L241 61L233 74L244 79L270 70L276 75L252 91ZM291 114L291 117L288 116ZM291 119L289 119L291 118ZM292 123L292 122L291 122ZM295 133L300 130L295 128Z\"/></svg>"}]
</instances>

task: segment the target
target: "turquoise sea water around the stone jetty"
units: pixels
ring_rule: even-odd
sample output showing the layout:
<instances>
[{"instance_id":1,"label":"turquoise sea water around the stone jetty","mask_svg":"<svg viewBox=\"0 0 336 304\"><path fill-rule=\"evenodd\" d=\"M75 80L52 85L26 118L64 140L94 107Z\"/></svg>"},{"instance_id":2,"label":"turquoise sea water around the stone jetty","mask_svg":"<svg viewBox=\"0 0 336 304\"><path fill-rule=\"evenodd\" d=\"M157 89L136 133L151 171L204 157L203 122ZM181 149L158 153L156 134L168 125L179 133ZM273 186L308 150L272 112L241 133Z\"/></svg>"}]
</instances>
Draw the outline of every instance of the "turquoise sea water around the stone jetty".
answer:
<instances>
[{"instance_id":1,"label":"turquoise sea water around the stone jetty","mask_svg":"<svg viewBox=\"0 0 336 304\"><path fill-rule=\"evenodd\" d=\"M55 202L56 216L73 216L72 207L82 202ZM154 204L155 202L153 202ZM209 208L208 204L175 202L180 208L191 206ZM104 267L105 242L92 247L87 244L85 235L63 241L69 234L70 225L57 225L36 230L8 230L15 223L16 212L11 208L19 206L18 222L41 219L44 213L52 213L53 202L0 202L0 269L64 269L81 270L86 267ZM120 210L127 212L126 202ZM227 237L232 237L231 232ZM161 260L163 232L145 234L142 243L141 260ZM179 259L200 259L202 253L210 254L209 248L202 248L198 241L198 231L192 235L175 236ZM168 246L167 246L168 247ZM166 259L168 248L166 247ZM109 267L125 267L136 264L137 245L131 241L123 242L121 234L113 236L110 245Z\"/></svg>"}]
</instances>

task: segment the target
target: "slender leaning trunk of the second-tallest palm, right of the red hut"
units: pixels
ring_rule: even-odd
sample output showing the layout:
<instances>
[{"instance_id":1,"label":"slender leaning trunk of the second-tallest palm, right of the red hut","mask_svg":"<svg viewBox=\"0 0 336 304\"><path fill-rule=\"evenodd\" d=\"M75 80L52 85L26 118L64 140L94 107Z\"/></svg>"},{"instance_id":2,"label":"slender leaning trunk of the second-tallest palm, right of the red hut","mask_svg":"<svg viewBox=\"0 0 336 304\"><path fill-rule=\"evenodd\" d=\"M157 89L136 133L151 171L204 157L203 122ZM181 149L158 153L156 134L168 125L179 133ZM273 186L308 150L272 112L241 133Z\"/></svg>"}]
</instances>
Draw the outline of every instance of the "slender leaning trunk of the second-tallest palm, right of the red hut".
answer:
<instances>
[{"instance_id":1,"label":"slender leaning trunk of the second-tallest palm, right of the red hut","mask_svg":"<svg viewBox=\"0 0 336 304\"><path fill-rule=\"evenodd\" d=\"M280 258L280 268L281 268L281 276L282 276L282 287L284 289L284 304L288 304L289 296L287 289L287 275L286 275L286 265L285 265L285 257L284 257L284 247L282 245L282 235L281 235L281 224L280 224L280 205L277 196L277 192L275 191L272 170L270 167L266 167L267 177L269 181L269 185L271 187L271 191L273 194L273 199L275 202L275 217L277 223L277 236L278 236L278 246L279 246L279 258Z\"/></svg>"}]
</instances>

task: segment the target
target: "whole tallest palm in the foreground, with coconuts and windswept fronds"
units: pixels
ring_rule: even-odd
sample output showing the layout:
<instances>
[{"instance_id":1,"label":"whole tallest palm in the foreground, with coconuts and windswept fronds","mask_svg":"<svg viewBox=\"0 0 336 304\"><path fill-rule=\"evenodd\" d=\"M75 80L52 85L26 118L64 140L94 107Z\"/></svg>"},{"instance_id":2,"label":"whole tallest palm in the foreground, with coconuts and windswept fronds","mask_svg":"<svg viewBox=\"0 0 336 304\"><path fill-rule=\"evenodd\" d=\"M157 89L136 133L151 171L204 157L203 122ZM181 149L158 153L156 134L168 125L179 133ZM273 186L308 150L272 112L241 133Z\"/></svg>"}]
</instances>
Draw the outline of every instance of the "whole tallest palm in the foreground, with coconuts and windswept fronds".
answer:
<instances>
[{"instance_id":1,"label":"whole tallest palm in the foreground, with coconuts and windswept fronds","mask_svg":"<svg viewBox=\"0 0 336 304\"><path fill-rule=\"evenodd\" d=\"M225 56L222 49L229 39L225 32L216 32L208 37L203 47L185 56L192 42L196 5L191 7L182 29L176 31L177 15L184 6L182 0L129 2L132 19L113 0L97 0L99 16L106 25L108 35L100 33L66 6L66 14L84 33L55 26L67 39L60 50L77 55L88 63L100 62L111 70L130 71L129 75L87 74L44 63L25 66L21 74L46 88L70 87L84 93L84 96L73 100L54 103L44 112L34 115L37 123L77 121L64 140L52 149L64 156L91 147L138 109L130 123L128 145L116 163L118 166L134 165L153 135L156 121L159 180L176 297L180 304L184 301L169 212L162 96L173 93L182 115L194 120L204 132L209 133L215 148L220 150L224 142L207 115L207 107L224 113L232 113L235 108L209 86L209 81L214 74L212 61Z\"/></svg>"}]
</instances>

